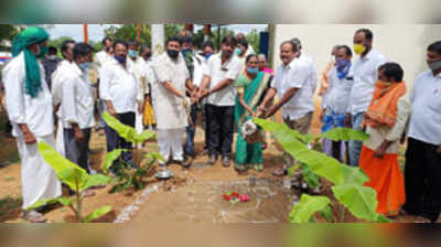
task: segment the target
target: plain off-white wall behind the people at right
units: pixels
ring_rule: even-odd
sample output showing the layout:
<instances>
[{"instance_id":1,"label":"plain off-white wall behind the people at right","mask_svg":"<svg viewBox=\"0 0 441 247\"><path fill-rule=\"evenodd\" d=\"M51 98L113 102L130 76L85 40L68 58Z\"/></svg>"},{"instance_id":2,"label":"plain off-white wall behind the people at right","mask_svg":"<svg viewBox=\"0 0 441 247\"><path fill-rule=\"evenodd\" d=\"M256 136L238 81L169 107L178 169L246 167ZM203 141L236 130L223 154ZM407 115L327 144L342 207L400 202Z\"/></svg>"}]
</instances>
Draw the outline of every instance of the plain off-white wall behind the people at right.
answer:
<instances>
[{"instance_id":1,"label":"plain off-white wall behind the people at right","mask_svg":"<svg viewBox=\"0 0 441 247\"><path fill-rule=\"evenodd\" d=\"M331 57L335 44L353 46L356 30L368 28L374 33L374 49L385 54L389 61L399 63L405 71L405 82L413 83L416 76L428 69L426 64L427 46L441 40L441 24L277 24L275 33L273 65L277 67L280 43L292 37L302 42L302 52L315 60L319 73ZM357 56L354 54L354 58Z\"/></svg>"}]
</instances>

